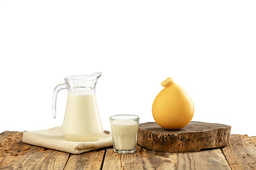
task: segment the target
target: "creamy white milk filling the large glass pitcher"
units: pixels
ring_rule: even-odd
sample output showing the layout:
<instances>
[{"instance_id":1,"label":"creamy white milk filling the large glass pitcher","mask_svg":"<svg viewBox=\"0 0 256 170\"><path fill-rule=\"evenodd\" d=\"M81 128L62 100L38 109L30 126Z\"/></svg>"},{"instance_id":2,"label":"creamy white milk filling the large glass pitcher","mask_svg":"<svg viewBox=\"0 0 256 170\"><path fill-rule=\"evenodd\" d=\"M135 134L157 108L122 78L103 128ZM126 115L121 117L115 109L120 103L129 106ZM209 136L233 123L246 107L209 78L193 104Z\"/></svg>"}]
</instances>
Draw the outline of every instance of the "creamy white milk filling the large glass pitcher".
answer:
<instances>
[{"instance_id":1,"label":"creamy white milk filling the large glass pitcher","mask_svg":"<svg viewBox=\"0 0 256 170\"><path fill-rule=\"evenodd\" d=\"M70 141L95 141L103 132L95 94L68 94L63 135Z\"/></svg>"}]
</instances>

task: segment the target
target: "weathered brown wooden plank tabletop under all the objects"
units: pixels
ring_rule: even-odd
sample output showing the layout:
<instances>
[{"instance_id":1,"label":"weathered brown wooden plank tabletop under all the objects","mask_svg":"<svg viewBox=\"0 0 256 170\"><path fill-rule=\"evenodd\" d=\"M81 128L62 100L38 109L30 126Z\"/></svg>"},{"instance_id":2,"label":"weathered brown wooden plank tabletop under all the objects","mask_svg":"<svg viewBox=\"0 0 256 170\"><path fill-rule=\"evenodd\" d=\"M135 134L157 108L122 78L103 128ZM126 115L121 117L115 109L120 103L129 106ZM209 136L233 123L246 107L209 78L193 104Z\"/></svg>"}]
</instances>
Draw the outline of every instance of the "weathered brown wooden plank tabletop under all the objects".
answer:
<instances>
[{"instance_id":1,"label":"weathered brown wooden plank tabletop under all the objects","mask_svg":"<svg viewBox=\"0 0 256 170\"><path fill-rule=\"evenodd\" d=\"M138 146L134 154L107 147L78 155L21 139L22 132L0 134L0 169L256 169L256 137L247 135L230 135L227 146L200 152L153 152Z\"/></svg>"}]
</instances>

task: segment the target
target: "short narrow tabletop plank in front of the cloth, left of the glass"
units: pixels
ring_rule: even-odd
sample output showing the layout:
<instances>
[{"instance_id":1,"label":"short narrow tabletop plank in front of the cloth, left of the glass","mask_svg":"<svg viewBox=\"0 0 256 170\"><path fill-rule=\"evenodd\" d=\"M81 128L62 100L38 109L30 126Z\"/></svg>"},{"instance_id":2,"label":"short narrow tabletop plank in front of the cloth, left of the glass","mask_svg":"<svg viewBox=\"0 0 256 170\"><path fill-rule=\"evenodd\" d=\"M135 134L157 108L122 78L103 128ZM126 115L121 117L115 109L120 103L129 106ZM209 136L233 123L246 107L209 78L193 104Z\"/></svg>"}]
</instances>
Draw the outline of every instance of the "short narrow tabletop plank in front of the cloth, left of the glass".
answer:
<instances>
[{"instance_id":1,"label":"short narrow tabletop plank in front of the cloth, left of the glass","mask_svg":"<svg viewBox=\"0 0 256 170\"><path fill-rule=\"evenodd\" d=\"M101 169L105 148L82 154L71 154L65 169Z\"/></svg>"}]
</instances>

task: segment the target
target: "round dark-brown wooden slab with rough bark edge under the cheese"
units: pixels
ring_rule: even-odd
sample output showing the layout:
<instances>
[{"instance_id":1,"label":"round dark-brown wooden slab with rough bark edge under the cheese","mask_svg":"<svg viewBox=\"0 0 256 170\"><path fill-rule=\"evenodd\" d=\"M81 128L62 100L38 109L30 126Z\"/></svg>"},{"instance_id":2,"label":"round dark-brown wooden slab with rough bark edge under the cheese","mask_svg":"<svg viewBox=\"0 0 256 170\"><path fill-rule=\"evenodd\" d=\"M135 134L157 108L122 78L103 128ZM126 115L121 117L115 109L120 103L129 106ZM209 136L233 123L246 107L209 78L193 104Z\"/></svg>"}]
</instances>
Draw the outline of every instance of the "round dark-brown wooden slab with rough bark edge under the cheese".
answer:
<instances>
[{"instance_id":1,"label":"round dark-brown wooden slab with rough bark edge under the cheese","mask_svg":"<svg viewBox=\"0 0 256 170\"><path fill-rule=\"evenodd\" d=\"M166 130L154 123L139 124L137 144L159 152L197 152L223 147L230 139L231 126L191 121L180 130Z\"/></svg>"}]
</instances>

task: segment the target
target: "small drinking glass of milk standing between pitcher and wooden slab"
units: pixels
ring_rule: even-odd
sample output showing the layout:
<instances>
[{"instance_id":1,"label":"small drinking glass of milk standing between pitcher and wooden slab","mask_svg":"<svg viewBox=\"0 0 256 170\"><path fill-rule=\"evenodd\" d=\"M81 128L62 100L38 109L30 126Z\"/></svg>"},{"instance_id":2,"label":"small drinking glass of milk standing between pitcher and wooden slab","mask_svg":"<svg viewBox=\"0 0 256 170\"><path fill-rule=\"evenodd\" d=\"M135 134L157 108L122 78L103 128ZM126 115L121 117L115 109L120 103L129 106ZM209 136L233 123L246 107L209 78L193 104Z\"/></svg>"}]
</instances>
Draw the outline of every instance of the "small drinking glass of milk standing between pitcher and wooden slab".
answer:
<instances>
[{"instance_id":1,"label":"small drinking glass of milk standing between pitcher and wooden slab","mask_svg":"<svg viewBox=\"0 0 256 170\"><path fill-rule=\"evenodd\" d=\"M113 115L110 117L114 152L131 154L136 151L139 116Z\"/></svg>"}]
</instances>

